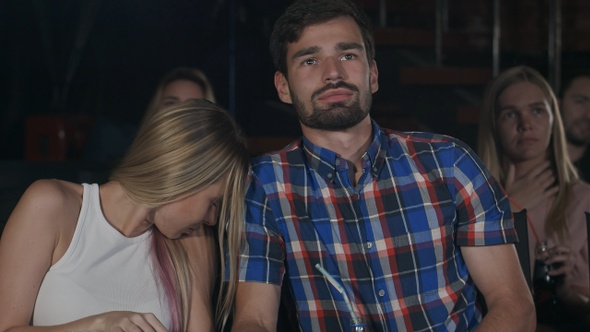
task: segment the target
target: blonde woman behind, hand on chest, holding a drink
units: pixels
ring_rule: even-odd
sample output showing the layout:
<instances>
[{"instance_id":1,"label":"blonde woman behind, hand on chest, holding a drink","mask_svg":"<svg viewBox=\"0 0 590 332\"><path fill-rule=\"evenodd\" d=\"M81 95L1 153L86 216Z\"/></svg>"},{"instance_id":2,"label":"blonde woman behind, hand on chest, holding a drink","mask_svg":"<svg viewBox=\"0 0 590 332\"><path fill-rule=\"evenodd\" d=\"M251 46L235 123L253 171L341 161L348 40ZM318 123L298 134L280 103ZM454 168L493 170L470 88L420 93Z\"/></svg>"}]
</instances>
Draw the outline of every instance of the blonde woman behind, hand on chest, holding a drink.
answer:
<instances>
[{"instance_id":1,"label":"blonde woman behind, hand on chest, holding a drink","mask_svg":"<svg viewBox=\"0 0 590 332\"><path fill-rule=\"evenodd\" d=\"M578 179L567 156L557 105L536 70L520 66L504 71L487 87L478 148L511 198L512 210L527 210L531 257L547 241L546 264L560 266L549 274L564 276L558 295L566 303L581 304L589 293L584 212L590 211L590 186Z\"/></svg>"}]
</instances>

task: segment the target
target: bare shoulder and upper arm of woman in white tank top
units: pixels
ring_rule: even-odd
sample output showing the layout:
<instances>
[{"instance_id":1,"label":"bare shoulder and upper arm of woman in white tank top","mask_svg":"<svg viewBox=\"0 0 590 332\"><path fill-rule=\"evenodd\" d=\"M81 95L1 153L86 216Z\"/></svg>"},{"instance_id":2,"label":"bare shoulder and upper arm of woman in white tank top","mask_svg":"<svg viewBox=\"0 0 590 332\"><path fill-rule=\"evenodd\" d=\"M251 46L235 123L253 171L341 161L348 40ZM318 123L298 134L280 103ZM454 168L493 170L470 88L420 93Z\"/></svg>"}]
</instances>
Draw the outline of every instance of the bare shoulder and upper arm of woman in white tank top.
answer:
<instances>
[{"instance_id":1,"label":"bare shoulder and upper arm of woman in white tank top","mask_svg":"<svg viewBox=\"0 0 590 332\"><path fill-rule=\"evenodd\" d=\"M37 292L72 206L55 181L37 181L8 218L0 241L0 331L29 324Z\"/></svg>"}]
</instances>

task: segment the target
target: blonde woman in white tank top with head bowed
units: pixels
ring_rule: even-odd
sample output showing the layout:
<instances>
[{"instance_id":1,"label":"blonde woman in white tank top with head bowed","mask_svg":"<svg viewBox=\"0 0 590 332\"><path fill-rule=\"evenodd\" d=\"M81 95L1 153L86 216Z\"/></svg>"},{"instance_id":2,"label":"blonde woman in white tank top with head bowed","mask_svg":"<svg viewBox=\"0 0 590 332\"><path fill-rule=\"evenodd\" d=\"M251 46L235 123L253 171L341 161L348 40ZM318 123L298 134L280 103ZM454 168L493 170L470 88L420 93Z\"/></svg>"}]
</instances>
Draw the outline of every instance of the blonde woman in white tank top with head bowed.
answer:
<instances>
[{"instance_id":1,"label":"blonde woman in white tank top with head bowed","mask_svg":"<svg viewBox=\"0 0 590 332\"><path fill-rule=\"evenodd\" d=\"M0 331L214 330L217 252L234 253L235 279L247 171L234 119L197 100L143 123L105 184L33 183L0 241Z\"/></svg>"}]
</instances>

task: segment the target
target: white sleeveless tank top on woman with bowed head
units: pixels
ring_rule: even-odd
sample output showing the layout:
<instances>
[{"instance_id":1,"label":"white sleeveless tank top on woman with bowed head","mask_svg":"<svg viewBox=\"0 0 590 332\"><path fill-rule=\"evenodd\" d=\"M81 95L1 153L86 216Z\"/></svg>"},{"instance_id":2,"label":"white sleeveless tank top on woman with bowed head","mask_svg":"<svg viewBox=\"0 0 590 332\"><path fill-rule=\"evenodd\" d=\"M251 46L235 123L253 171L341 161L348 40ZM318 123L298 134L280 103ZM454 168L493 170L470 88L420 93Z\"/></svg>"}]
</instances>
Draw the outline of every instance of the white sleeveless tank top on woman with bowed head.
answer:
<instances>
[{"instance_id":1,"label":"white sleeveless tank top on woman with bowed head","mask_svg":"<svg viewBox=\"0 0 590 332\"><path fill-rule=\"evenodd\" d=\"M97 184L84 196L70 246L41 283L33 325L64 324L108 311L151 312L170 329L150 255L151 230L127 238L105 219Z\"/></svg>"}]
</instances>

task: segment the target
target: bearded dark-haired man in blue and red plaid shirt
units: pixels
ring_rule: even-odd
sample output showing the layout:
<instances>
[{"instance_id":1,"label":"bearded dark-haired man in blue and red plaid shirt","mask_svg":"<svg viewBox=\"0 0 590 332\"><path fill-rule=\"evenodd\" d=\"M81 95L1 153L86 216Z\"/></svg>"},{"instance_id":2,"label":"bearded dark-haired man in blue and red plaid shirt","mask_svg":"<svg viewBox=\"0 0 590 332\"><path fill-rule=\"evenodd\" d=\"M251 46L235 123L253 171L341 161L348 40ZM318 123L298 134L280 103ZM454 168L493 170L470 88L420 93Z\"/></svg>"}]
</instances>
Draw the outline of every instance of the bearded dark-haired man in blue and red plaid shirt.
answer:
<instances>
[{"instance_id":1,"label":"bearded dark-haired man in blue and red plaid shirt","mask_svg":"<svg viewBox=\"0 0 590 332\"><path fill-rule=\"evenodd\" d=\"M303 138L253 160L233 331L274 330L281 300L303 331L534 329L497 182L455 139L372 122L366 16L297 1L271 52Z\"/></svg>"}]
</instances>

